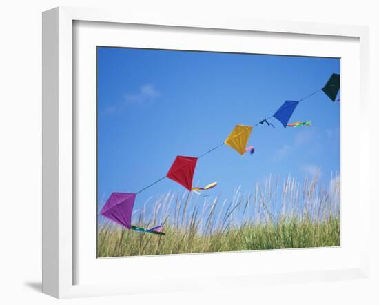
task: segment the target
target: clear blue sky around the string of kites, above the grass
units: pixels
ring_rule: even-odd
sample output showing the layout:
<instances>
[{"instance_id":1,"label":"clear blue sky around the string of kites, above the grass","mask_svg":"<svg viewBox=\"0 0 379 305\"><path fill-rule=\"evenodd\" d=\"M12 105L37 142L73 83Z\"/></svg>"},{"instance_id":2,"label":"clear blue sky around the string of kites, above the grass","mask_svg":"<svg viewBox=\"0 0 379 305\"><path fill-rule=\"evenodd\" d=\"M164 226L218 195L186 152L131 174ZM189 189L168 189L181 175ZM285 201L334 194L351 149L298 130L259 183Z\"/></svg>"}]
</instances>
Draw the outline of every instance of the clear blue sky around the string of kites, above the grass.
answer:
<instances>
[{"instance_id":1,"label":"clear blue sky around the string of kites, above the grass","mask_svg":"<svg viewBox=\"0 0 379 305\"><path fill-rule=\"evenodd\" d=\"M339 59L217 52L98 48L98 199L135 193L165 176L176 155L198 156L221 144L236 124L254 125L285 100L322 88ZM301 101L290 122L311 127L256 126L254 155L221 146L198 160L194 185L213 181L209 195L253 190L271 174L303 179L319 169L328 181L340 168L340 106L323 92ZM184 188L164 179L139 194Z\"/></svg>"}]
</instances>

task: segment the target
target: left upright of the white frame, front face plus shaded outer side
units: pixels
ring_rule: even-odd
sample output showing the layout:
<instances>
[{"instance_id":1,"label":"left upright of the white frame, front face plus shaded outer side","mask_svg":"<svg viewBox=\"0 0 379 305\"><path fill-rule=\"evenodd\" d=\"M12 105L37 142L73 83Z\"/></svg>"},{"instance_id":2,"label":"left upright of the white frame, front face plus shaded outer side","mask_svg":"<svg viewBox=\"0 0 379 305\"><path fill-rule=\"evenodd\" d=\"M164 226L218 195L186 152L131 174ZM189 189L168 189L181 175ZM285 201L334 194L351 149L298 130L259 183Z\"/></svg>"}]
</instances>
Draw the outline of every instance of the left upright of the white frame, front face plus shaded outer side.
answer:
<instances>
[{"instance_id":1,"label":"left upright of the white frame, front face plus shaded outer side","mask_svg":"<svg viewBox=\"0 0 379 305\"><path fill-rule=\"evenodd\" d=\"M42 292L68 295L73 286L72 17L42 14Z\"/></svg>"}]
</instances>

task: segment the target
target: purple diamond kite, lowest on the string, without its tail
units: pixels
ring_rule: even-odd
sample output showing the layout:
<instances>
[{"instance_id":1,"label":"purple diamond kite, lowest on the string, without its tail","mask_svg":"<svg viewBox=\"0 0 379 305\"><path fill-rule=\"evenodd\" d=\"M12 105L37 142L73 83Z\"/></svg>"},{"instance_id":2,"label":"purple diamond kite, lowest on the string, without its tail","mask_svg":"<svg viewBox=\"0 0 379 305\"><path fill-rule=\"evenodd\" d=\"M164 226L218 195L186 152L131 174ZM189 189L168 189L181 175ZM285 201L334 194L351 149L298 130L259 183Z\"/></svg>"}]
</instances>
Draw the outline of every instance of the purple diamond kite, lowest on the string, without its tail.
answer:
<instances>
[{"instance_id":1,"label":"purple diamond kite, lowest on the string, without its tail","mask_svg":"<svg viewBox=\"0 0 379 305\"><path fill-rule=\"evenodd\" d=\"M134 193L112 193L105 202L101 215L130 229L135 199Z\"/></svg>"}]
</instances>

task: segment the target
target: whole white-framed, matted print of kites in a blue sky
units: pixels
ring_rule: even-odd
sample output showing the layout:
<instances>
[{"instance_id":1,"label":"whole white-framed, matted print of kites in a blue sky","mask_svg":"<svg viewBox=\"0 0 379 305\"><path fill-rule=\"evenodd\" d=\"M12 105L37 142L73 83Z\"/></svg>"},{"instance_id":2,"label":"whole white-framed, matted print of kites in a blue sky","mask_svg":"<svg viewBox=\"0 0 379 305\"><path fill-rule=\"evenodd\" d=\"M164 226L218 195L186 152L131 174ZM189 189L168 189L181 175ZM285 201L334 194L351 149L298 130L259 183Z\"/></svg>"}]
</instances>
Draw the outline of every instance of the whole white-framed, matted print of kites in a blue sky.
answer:
<instances>
[{"instance_id":1,"label":"whole white-framed, matted print of kites in a blue sky","mask_svg":"<svg viewBox=\"0 0 379 305\"><path fill-rule=\"evenodd\" d=\"M367 39L44 12L43 292L366 277Z\"/></svg>"}]
</instances>

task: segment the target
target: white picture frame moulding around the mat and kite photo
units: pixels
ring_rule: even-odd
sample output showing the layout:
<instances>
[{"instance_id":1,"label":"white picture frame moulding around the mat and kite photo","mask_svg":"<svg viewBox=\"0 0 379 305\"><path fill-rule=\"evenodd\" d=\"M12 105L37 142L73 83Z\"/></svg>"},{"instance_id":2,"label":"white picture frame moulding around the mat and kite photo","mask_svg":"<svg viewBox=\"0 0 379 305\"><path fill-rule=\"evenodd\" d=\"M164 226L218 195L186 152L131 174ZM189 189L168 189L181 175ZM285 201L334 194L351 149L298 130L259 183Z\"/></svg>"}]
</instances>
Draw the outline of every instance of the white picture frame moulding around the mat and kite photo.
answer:
<instances>
[{"instance_id":1,"label":"white picture frame moulding around the mat and kite photo","mask_svg":"<svg viewBox=\"0 0 379 305\"><path fill-rule=\"evenodd\" d=\"M148 16L135 12L110 12L86 8L60 7L43 12L43 293L54 297L83 297L144 293L144 286L130 286L127 282L108 284L74 284L77 244L74 225L74 175L77 166L74 157L77 145L74 120L74 30L75 21L107 22L197 28L198 30L234 30L244 32L277 33L278 35L322 35L324 37L354 37L359 39L359 103L360 116L356 124L369 115L369 30L362 26L338 26L320 23L287 21L258 21L237 18L201 19L183 16ZM358 122L357 122L358 121ZM359 130L359 204L362 231L369 228L369 132ZM343 174L342 174L343 177ZM343 178L342 178L343 179ZM365 278L369 274L368 234L362 235L359 248L360 262L349 268L326 270L296 270L294 272L218 275L214 281L198 278L196 282L178 281L172 275L157 291L181 291L196 288L223 288L226 286L254 286L265 282L312 282L322 280ZM222 254L221 254L222 255ZM291 255L287 253L286 255ZM182 256L183 257L183 256ZM203 255L197 255L202 260ZM167 257L160 257L161 262ZM204 256L204 259L207 259ZM183 264L183 258L178 260Z\"/></svg>"}]
</instances>

